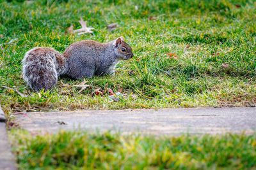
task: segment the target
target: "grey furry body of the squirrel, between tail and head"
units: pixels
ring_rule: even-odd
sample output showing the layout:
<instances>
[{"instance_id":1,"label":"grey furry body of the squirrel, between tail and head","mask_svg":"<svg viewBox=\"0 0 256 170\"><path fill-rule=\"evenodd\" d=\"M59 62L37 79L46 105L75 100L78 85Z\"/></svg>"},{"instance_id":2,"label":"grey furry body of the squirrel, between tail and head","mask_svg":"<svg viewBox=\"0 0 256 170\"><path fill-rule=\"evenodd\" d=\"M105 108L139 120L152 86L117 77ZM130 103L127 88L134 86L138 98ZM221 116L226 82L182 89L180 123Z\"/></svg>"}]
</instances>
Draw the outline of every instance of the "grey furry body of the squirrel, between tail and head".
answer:
<instances>
[{"instance_id":1,"label":"grey furry body of the squirrel, between tail and head","mask_svg":"<svg viewBox=\"0 0 256 170\"><path fill-rule=\"evenodd\" d=\"M93 40L82 40L68 46L63 53L67 60L67 76L80 79L106 74L117 60L113 48L111 42L100 43Z\"/></svg>"}]
</instances>

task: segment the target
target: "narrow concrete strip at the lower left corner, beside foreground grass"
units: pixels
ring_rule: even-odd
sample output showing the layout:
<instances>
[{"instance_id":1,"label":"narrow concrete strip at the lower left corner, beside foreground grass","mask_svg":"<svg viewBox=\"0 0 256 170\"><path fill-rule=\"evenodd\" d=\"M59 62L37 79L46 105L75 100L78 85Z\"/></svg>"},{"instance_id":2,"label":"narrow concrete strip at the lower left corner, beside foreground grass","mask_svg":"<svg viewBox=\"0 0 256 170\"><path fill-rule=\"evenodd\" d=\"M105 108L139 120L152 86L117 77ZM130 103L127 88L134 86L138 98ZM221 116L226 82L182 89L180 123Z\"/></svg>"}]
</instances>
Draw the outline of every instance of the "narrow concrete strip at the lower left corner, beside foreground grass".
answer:
<instances>
[{"instance_id":1,"label":"narrow concrete strip at the lower left corner, beside foreground grass","mask_svg":"<svg viewBox=\"0 0 256 170\"><path fill-rule=\"evenodd\" d=\"M8 143L6 127L3 120L5 120L4 113L0 107L0 169L1 170L15 170L16 163L15 158L11 152L10 145Z\"/></svg>"}]
</instances>

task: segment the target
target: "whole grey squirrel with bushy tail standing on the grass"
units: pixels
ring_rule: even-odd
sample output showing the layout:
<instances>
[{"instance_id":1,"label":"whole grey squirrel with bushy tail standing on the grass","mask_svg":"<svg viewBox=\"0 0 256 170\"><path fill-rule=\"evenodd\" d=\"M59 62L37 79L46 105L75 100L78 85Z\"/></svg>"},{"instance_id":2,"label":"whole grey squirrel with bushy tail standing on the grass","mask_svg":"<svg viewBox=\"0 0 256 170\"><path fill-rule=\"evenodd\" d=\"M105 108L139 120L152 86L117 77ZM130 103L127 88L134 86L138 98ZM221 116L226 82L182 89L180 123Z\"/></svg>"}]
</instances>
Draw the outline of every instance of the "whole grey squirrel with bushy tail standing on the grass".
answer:
<instances>
[{"instance_id":1,"label":"whole grey squirrel with bushy tail standing on the grass","mask_svg":"<svg viewBox=\"0 0 256 170\"><path fill-rule=\"evenodd\" d=\"M24 59L23 78L35 91L52 89L61 75L80 79L115 73L120 60L133 57L132 48L120 37L108 43L83 40L68 46L63 54L52 48L36 47Z\"/></svg>"}]
</instances>

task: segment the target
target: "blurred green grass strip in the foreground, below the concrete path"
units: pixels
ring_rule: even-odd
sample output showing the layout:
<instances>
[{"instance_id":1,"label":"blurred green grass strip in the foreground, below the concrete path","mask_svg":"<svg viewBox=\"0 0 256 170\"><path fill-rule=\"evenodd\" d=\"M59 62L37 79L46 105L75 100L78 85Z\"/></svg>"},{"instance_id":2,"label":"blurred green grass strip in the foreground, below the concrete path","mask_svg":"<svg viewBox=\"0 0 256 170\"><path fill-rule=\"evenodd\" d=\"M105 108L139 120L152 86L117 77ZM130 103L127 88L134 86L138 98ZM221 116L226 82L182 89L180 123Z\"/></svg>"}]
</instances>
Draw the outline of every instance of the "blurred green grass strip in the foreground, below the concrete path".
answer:
<instances>
[{"instance_id":1,"label":"blurred green grass strip in the foreground, below the concrete path","mask_svg":"<svg viewBox=\"0 0 256 170\"><path fill-rule=\"evenodd\" d=\"M256 136L161 137L12 131L19 169L256 169Z\"/></svg>"}]
</instances>

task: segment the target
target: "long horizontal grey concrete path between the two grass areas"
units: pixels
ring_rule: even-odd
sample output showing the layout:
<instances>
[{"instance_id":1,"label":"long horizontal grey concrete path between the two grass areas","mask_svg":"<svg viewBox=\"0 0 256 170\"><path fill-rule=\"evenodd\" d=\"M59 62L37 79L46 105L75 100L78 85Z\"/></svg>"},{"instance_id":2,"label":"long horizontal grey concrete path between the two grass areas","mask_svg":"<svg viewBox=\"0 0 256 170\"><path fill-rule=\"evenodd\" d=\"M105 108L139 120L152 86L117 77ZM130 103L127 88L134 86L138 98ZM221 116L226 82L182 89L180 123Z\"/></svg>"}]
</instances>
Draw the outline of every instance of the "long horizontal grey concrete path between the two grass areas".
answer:
<instances>
[{"instance_id":1,"label":"long horizontal grey concrete path between the two grass areas","mask_svg":"<svg viewBox=\"0 0 256 170\"><path fill-rule=\"evenodd\" d=\"M89 132L146 134L223 134L256 132L256 108L189 108L161 110L85 110L34 112L17 115L31 132L86 129Z\"/></svg>"}]
</instances>

